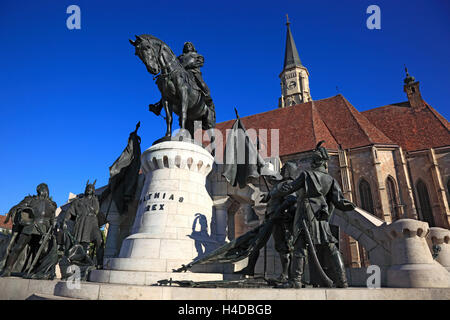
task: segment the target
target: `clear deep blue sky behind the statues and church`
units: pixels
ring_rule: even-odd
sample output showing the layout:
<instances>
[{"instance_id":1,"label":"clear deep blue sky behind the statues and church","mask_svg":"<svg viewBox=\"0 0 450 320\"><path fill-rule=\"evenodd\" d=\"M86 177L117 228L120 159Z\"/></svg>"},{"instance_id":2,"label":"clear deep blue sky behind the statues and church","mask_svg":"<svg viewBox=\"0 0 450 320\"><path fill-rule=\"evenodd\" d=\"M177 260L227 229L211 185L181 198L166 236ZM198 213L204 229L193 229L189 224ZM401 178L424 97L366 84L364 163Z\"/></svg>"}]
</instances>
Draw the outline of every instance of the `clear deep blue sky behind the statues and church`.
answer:
<instances>
[{"instance_id":1,"label":"clear deep blue sky behind the statues and church","mask_svg":"<svg viewBox=\"0 0 450 320\"><path fill-rule=\"evenodd\" d=\"M81 9L69 30L66 8ZM381 30L366 9L381 8ZM313 99L339 92L358 110L405 101L403 65L422 96L450 116L448 1L80 1L0 2L0 213L48 183L58 205L108 167L141 121L141 148L163 135L148 112L160 98L128 43L152 34L176 54L192 41L217 120L277 107L285 14ZM294 120L295 121L295 120ZM177 123L177 121L174 121Z\"/></svg>"}]
</instances>

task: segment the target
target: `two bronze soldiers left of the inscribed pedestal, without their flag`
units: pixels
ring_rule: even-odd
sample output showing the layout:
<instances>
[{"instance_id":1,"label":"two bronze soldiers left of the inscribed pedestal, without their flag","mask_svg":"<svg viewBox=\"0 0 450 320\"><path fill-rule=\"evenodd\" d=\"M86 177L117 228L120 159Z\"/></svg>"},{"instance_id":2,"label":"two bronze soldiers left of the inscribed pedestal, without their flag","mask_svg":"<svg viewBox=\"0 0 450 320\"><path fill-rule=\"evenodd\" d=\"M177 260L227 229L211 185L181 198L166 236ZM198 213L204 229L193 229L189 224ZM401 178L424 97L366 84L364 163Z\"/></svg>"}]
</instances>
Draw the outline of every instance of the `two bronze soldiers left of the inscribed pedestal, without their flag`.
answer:
<instances>
[{"instance_id":1,"label":"two bronze soldiers left of the inscribed pedestal, without their flag","mask_svg":"<svg viewBox=\"0 0 450 320\"><path fill-rule=\"evenodd\" d=\"M36 188L37 195L27 196L8 212L6 221L13 223L12 235L3 259L2 277L11 275L31 279L54 279L59 263L63 279L80 268L86 280L88 272L102 268L104 241L100 227L104 224L95 182L86 184L78 195L56 217L56 203L50 198L47 184ZM95 257L94 257L95 254Z\"/></svg>"}]
</instances>

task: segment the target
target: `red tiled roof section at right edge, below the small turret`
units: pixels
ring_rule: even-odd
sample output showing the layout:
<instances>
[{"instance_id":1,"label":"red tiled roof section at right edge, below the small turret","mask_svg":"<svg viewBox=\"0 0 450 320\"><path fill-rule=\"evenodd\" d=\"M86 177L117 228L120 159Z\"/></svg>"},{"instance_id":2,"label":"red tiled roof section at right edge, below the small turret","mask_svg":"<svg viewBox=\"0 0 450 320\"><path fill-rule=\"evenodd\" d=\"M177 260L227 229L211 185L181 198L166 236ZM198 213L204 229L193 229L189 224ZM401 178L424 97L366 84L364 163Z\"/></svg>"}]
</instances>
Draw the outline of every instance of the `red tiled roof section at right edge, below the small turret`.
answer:
<instances>
[{"instance_id":1,"label":"red tiled roof section at right edge, below the small turret","mask_svg":"<svg viewBox=\"0 0 450 320\"><path fill-rule=\"evenodd\" d=\"M405 151L450 145L449 122L425 101L420 109L406 101L362 114Z\"/></svg>"}]
</instances>

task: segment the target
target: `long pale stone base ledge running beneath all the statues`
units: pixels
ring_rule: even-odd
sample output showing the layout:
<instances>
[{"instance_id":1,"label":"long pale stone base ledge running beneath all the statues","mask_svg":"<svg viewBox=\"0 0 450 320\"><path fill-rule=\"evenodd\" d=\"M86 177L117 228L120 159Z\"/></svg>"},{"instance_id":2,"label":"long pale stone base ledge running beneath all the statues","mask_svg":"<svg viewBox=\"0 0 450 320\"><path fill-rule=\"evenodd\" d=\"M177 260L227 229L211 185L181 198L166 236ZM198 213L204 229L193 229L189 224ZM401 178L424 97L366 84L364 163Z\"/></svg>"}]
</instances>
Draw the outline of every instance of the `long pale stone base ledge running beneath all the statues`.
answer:
<instances>
[{"instance_id":1,"label":"long pale stone base ledge running beneath all the statues","mask_svg":"<svg viewBox=\"0 0 450 320\"><path fill-rule=\"evenodd\" d=\"M450 300L449 288L237 289L180 288L0 278L1 300Z\"/></svg>"}]
</instances>

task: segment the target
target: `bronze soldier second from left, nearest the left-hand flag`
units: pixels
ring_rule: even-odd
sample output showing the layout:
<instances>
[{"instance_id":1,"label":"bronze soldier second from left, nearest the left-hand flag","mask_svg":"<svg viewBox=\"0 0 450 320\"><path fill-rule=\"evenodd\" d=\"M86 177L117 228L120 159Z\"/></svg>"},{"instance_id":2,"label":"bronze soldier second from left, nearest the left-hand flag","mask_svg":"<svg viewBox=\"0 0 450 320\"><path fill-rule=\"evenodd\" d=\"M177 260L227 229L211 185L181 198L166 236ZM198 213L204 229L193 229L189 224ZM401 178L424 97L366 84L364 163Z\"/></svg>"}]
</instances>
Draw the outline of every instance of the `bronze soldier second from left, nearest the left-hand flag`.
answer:
<instances>
[{"instance_id":1,"label":"bronze soldier second from left, nearest the left-hand flag","mask_svg":"<svg viewBox=\"0 0 450 320\"><path fill-rule=\"evenodd\" d=\"M89 245L94 242L97 268L103 268L103 236L100 231L98 214L100 211L99 201L95 195L95 181L86 183L84 196L73 200L64 217L63 228L67 228L69 219L75 220L74 239L81 244L84 251L88 252Z\"/></svg>"}]
</instances>

